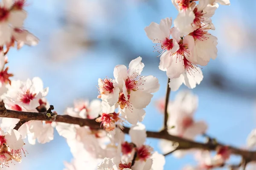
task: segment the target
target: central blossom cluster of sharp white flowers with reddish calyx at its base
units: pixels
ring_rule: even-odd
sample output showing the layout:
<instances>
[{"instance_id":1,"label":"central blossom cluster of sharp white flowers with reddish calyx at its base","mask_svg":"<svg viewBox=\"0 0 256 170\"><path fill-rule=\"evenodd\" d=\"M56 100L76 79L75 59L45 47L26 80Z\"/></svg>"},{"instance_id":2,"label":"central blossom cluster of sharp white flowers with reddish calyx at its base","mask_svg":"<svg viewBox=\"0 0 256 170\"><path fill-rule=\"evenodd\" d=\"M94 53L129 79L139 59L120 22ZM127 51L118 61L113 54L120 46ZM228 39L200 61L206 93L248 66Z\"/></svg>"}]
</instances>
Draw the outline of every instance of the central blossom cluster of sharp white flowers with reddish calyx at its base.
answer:
<instances>
[{"instance_id":1,"label":"central blossom cluster of sharp white flowers with reddish calyx at its base","mask_svg":"<svg viewBox=\"0 0 256 170\"><path fill-rule=\"evenodd\" d=\"M99 96L102 99L103 113L98 119L107 130L112 130L122 119L115 118L119 113L129 123L136 125L142 122L146 106L151 102L154 92L160 84L154 76L141 76L144 64L142 58L133 59L129 68L116 65L113 74L115 79L99 79ZM118 113L113 112L118 110Z\"/></svg>"}]
</instances>

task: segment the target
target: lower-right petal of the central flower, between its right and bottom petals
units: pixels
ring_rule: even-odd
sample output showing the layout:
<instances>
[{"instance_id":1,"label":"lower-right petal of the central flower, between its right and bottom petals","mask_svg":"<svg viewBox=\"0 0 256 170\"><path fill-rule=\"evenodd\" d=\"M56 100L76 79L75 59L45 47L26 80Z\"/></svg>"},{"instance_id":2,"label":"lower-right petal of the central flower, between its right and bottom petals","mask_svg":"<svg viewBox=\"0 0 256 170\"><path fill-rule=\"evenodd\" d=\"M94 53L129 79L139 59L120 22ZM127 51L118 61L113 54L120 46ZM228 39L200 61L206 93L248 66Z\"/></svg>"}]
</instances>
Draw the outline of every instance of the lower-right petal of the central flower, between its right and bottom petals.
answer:
<instances>
[{"instance_id":1,"label":"lower-right petal of the central flower, between its right and bottom petals","mask_svg":"<svg viewBox=\"0 0 256 170\"><path fill-rule=\"evenodd\" d=\"M132 108L143 109L151 102L152 97L153 94L144 91L131 91L129 101L133 106Z\"/></svg>"}]
</instances>

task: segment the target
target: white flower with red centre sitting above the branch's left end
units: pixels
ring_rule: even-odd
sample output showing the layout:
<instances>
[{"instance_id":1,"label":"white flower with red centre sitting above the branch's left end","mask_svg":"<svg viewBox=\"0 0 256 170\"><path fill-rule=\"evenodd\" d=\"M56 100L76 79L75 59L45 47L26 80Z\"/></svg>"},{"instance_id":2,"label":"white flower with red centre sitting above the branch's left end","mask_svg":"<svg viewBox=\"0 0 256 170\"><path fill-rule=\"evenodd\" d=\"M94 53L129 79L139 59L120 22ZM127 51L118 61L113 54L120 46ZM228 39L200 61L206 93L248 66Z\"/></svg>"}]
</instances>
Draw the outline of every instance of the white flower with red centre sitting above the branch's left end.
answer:
<instances>
[{"instance_id":1,"label":"white flower with red centre sitting above the branch's left end","mask_svg":"<svg viewBox=\"0 0 256 170\"><path fill-rule=\"evenodd\" d=\"M39 99L47 94L48 88L43 88L42 80L35 77L32 80L27 79L26 82L12 81L12 85L8 86L8 92L3 100L5 103L11 102L32 111L40 105Z\"/></svg>"}]
</instances>

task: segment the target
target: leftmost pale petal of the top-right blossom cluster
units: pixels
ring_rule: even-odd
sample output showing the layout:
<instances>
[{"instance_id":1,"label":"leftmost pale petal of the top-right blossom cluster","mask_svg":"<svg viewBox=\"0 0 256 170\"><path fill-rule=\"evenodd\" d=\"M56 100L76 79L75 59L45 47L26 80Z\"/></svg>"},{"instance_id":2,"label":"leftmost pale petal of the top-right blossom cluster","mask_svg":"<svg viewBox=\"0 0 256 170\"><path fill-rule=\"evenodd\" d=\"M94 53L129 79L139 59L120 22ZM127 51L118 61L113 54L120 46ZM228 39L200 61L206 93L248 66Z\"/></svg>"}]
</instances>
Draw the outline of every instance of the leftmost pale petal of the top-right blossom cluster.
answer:
<instances>
[{"instance_id":1,"label":"leftmost pale petal of the top-right blossom cluster","mask_svg":"<svg viewBox=\"0 0 256 170\"><path fill-rule=\"evenodd\" d=\"M169 34L164 34L160 29L159 24L152 22L149 26L144 28L146 35L153 43L158 43L159 40L165 40L169 38Z\"/></svg>"}]
</instances>

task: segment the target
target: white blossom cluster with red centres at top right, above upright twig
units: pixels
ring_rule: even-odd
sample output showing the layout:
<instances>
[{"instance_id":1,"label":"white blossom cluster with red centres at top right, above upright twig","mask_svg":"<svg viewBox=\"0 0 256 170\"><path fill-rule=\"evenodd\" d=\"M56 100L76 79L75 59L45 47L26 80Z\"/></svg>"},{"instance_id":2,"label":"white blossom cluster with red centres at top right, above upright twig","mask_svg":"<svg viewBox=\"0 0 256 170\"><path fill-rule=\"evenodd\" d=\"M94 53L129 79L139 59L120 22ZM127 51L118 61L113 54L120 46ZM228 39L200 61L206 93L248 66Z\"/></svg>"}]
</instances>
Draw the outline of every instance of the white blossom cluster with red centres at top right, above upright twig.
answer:
<instances>
[{"instance_id":1,"label":"white blossom cluster with red centres at top right, above upright twig","mask_svg":"<svg viewBox=\"0 0 256 170\"><path fill-rule=\"evenodd\" d=\"M198 1L198 3L196 3ZM217 57L217 37L211 17L221 5L230 5L229 0L172 0L178 11L177 18L165 18L160 24L152 22L145 32L159 52L159 69L166 71L169 86L177 91L180 85L195 88L203 79L201 66Z\"/></svg>"}]
</instances>

